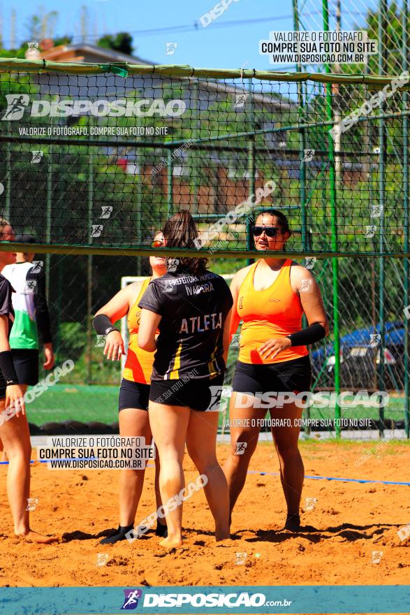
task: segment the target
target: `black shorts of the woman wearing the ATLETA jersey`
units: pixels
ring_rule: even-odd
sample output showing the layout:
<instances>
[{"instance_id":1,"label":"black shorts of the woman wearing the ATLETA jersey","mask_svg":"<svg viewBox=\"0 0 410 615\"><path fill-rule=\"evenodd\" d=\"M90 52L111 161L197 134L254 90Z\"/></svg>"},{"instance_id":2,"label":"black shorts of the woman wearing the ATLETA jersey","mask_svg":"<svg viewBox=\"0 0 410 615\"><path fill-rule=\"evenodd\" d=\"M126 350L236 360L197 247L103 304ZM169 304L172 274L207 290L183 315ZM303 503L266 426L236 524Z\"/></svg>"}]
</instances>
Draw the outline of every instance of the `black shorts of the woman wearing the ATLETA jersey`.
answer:
<instances>
[{"instance_id":1,"label":"black shorts of the woman wearing the ATLETA jersey","mask_svg":"<svg viewBox=\"0 0 410 615\"><path fill-rule=\"evenodd\" d=\"M149 401L170 406L188 406L191 410L218 411L224 374L215 378L153 380Z\"/></svg>"}]
</instances>

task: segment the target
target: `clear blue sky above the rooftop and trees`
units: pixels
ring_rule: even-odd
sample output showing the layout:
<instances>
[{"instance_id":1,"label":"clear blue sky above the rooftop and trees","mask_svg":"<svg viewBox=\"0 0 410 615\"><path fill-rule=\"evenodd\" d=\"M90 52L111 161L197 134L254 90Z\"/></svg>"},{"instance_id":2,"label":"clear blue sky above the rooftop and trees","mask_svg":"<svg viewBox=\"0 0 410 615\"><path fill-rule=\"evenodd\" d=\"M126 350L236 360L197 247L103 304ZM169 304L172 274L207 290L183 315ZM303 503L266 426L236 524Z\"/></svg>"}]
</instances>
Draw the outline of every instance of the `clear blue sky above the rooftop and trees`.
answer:
<instances>
[{"instance_id":1,"label":"clear blue sky above the rooftop and trees","mask_svg":"<svg viewBox=\"0 0 410 615\"><path fill-rule=\"evenodd\" d=\"M291 0L225 0L226 10L214 20L210 11L215 0L19 0L15 3L15 39L27 41L27 24L32 15L57 11L54 36L65 34L79 41L82 6L87 7L87 42L103 34L128 31L133 35L134 55L160 64L189 64L207 68L256 68L284 70L272 66L259 55L259 41L272 30L293 30ZM230 2L228 4L228 2ZM301 29L323 27L321 0L299 0ZM342 29L363 26L369 7L377 0L342 0ZM1 36L4 46L12 40L10 4L2 0ZM335 26L336 0L329 0L330 27ZM207 14L203 17L203 15ZM208 23L205 27L201 24ZM177 43L173 55L166 54L166 43ZM289 67L293 68L293 67Z\"/></svg>"}]
</instances>

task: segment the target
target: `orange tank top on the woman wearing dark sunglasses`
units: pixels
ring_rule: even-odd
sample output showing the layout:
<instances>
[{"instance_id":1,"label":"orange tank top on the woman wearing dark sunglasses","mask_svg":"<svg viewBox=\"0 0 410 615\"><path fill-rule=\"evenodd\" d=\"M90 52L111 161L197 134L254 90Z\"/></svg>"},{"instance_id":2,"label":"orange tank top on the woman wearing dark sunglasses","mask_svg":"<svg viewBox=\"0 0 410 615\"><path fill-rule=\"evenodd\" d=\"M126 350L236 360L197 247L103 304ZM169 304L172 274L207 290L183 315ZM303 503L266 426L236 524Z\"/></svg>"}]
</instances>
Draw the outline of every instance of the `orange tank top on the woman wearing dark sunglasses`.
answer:
<instances>
[{"instance_id":1,"label":"orange tank top on the woman wearing dark sunglasses","mask_svg":"<svg viewBox=\"0 0 410 615\"><path fill-rule=\"evenodd\" d=\"M282 363L309 354L306 346L291 346L273 359L262 359L258 348L270 338L284 338L302 328L303 308L291 287L291 259L279 270L267 289L254 289L254 275L260 261L249 269L237 297L237 313L243 321L239 361L242 363Z\"/></svg>"}]
</instances>

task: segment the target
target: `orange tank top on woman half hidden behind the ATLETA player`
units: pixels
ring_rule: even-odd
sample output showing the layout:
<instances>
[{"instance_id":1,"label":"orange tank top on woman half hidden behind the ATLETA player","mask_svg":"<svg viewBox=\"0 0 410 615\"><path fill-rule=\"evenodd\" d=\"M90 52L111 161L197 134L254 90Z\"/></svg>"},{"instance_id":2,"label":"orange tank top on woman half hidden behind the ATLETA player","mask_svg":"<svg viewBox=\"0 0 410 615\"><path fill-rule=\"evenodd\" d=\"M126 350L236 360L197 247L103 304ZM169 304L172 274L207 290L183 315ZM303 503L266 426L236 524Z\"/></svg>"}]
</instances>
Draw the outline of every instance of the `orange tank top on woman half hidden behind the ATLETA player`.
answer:
<instances>
[{"instance_id":1,"label":"orange tank top on woman half hidden behind the ATLETA player","mask_svg":"<svg viewBox=\"0 0 410 615\"><path fill-rule=\"evenodd\" d=\"M131 382L140 382L140 384L150 384L155 354L154 352L147 352L138 347L138 328L140 326L141 317L141 308L138 307L138 303L145 293L149 282L151 282L150 277L144 280L138 297L131 307L131 310L128 312L129 347L126 355L124 372L122 372L123 378L131 380Z\"/></svg>"}]
</instances>

